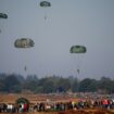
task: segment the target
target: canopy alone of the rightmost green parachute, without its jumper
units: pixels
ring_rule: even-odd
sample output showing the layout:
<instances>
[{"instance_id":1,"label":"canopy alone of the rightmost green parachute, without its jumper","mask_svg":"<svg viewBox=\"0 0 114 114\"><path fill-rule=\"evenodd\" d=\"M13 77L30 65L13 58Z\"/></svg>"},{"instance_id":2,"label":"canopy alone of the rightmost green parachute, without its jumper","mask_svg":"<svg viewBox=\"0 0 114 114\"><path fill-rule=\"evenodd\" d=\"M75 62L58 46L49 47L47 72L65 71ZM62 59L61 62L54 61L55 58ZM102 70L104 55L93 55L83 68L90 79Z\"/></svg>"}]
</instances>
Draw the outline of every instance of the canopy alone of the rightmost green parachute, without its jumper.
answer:
<instances>
[{"instance_id":1,"label":"canopy alone of the rightmost green parachute, without its jumper","mask_svg":"<svg viewBox=\"0 0 114 114\"><path fill-rule=\"evenodd\" d=\"M87 49L85 46L72 46L71 53L86 53Z\"/></svg>"}]
</instances>

